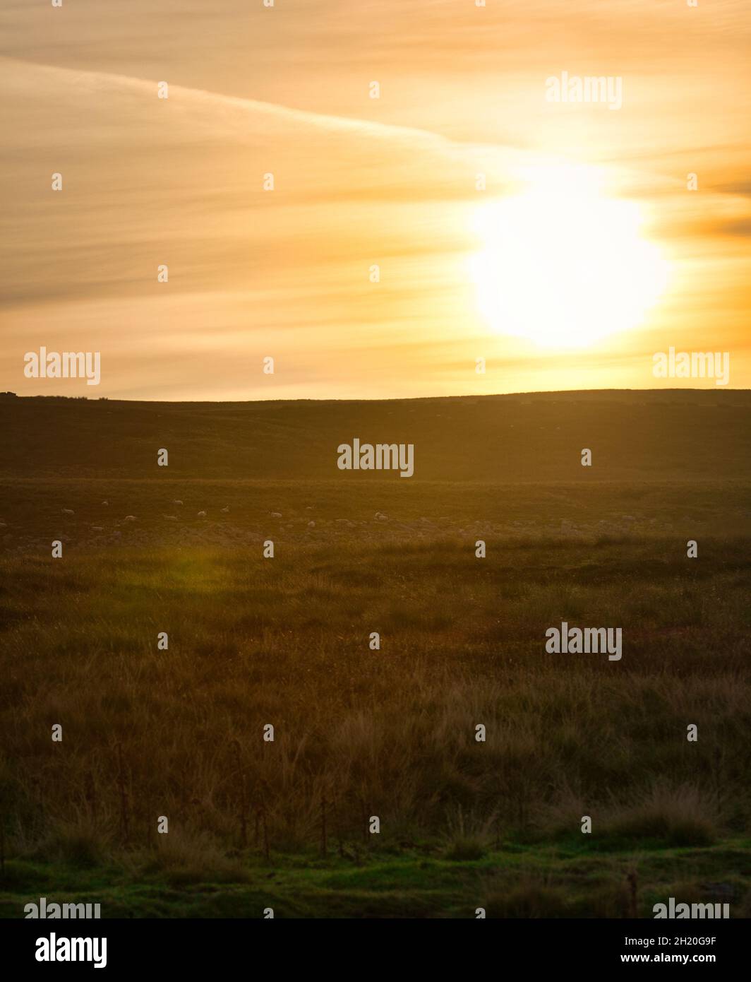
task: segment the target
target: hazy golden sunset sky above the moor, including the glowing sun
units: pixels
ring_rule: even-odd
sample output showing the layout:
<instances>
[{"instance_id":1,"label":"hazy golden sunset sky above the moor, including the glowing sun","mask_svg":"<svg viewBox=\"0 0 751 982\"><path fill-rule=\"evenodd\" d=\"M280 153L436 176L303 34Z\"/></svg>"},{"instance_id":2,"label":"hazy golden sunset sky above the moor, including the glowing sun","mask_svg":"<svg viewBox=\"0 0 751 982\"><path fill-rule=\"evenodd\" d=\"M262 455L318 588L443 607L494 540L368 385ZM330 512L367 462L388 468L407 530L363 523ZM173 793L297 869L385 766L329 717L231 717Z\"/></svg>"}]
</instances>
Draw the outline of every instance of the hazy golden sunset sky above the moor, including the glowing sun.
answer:
<instances>
[{"instance_id":1,"label":"hazy golden sunset sky above the moor, including the glowing sun","mask_svg":"<svg viewBox=\"0 0 751 982\"><path fill-rule=\"evenodd\" d=\"M4 0L0 390L748 387L751 7L692 2Z\"/></svg>"}]
</instances>

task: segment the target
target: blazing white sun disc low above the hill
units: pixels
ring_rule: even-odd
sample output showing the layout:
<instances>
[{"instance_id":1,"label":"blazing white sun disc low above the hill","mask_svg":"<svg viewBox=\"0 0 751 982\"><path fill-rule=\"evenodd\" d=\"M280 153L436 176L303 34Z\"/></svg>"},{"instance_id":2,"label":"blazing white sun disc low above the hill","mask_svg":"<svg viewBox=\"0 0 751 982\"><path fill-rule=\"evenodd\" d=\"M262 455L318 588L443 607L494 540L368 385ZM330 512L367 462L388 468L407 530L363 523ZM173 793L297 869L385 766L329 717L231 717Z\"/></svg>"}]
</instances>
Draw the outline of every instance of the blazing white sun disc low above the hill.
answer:
<instances>
[{"instance_id":1,"label":"blazing white sun disc low above the hill","mask_svg":"<svg viewBox=\"0 0 751 982\"><path fill-rule=\"evenodd\" d=\"M609 197L593 168L526 171L523 190L474 216L477 305L500 334L575 348L633 328L665 290L668 263L642 238L634 201Z\"/></svg>"}]
</instances>

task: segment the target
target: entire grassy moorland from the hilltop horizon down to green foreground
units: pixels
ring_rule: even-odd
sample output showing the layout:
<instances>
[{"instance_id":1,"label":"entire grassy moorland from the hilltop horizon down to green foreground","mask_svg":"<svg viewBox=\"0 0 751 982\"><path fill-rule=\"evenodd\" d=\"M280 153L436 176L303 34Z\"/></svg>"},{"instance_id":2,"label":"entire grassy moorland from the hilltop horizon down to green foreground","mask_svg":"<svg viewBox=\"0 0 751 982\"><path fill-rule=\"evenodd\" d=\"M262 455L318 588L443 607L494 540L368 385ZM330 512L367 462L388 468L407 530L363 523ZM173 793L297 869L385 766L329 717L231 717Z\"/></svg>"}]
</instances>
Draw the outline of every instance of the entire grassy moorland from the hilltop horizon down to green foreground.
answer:
<instances>
[{"instance_id":1,"label":"entire grassy moorland from the hilltop horizon down to green foreground","mask_svg":"<svg viewBox=\"0 0 751 982\"><path fill-rule=\"evenodd\" d=\"M748 916L749 409L0 401L0 913Z\"/></svg>"}]
</instances>

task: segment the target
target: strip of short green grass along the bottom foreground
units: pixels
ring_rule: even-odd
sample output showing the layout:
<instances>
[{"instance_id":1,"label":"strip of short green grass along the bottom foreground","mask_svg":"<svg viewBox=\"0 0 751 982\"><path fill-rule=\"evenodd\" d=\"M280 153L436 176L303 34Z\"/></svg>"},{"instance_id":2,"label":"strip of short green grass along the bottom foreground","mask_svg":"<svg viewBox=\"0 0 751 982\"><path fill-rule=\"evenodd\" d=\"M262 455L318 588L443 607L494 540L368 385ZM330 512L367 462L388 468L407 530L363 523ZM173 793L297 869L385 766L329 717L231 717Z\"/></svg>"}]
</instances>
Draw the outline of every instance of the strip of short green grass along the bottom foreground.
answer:
<instances>
[{"instance_id":1,"label":"strip of short green grass along the bottom foreground","mask_svg":"<svg viewBox=\"0 0 751 982\"><path fill-rule=\"evenodd\" d=\"M751 906L751 843L712 848L611 851L585 844L508 846L452 861L430 849L398 855L274 855L244 859L236 882L193 873L167 877L113 864L95 870L28 861L8 863L0 917L18 917L27 902L100 903L103 917L652 917L652 906L676 896L716 900L717 881L731 916ZM636 874L636 894L628 875ZM632 906L635 903L635 906Z\"/></svg>"}]
</instances>

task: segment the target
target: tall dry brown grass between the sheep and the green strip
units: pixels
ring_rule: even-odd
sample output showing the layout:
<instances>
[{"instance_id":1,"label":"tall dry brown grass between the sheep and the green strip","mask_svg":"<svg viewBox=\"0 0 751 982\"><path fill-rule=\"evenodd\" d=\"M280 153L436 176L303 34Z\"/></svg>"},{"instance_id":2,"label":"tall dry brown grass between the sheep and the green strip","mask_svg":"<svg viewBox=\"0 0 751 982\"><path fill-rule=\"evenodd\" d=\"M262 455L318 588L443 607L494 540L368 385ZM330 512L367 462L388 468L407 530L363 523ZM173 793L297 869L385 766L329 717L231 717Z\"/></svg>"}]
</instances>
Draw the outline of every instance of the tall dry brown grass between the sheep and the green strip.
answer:
<instances>
[{"instance_id":1,"label":"tall dry brown grass between the sheep and the green strip","mask_svg":"<svg viewBox=\"0 0 751 982\"><path fill-rule=\"evenodd\" d=\"M5 559L6 851L234 868L319 847L322 812L331 851L478 854L578 836L585 814L612 842L747 830L746 542L709 554L530 540L478 561L454 538ZM547 654L563 620L622 627L622 660Z\"/></svg>"}]
</instances>

